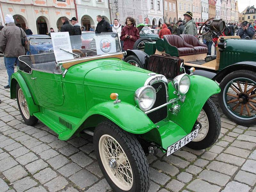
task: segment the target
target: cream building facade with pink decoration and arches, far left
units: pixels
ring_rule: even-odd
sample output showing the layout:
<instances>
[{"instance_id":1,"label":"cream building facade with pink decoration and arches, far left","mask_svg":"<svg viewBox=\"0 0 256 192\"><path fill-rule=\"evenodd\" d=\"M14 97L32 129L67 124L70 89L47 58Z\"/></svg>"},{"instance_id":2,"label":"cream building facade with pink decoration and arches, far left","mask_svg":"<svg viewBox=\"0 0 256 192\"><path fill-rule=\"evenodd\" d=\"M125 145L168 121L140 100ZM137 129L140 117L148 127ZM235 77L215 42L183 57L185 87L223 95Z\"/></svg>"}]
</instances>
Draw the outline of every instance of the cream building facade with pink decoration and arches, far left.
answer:
<instances>
[{"instance_id":1,"label":"cream building facade with pink decoration and arches, far left","mask_svg":"<svg viewBox=\"0 0 256 192\"><path fill-rule=\"evenodd\" d=\"M33 34L48 34L52 27L60 28L61 17L76 17L73 0L0 0L2 22L6 14L11 14L17 26L27 26Z\"/></svg>"}]
</instances>

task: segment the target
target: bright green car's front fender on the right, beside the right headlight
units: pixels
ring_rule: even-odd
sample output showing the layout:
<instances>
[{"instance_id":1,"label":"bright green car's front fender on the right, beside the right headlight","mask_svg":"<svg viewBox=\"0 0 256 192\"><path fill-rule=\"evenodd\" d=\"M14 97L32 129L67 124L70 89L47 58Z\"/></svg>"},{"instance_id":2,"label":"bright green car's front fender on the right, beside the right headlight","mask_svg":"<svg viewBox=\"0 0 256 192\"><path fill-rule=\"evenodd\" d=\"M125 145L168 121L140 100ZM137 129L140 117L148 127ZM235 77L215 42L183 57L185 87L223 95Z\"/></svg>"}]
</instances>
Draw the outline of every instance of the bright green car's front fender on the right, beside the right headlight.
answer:
<instances>
[{"instance_id":1,"label":"bright green car's front fender on the right, beside the right headlight","mask_svg":"<svg viewBox=\"0 0 256 192\"><path fill-rule=\"evenodd\" d=\"M190 80L191 83L186 94L186 100L180 104L180 113L178 115L170 114L170 120L180 125L187 133L191 132L205 102L212 95L220 92L219 85L211 79L193 75L190 76ZM173 95L173 89L170 89L169 95Z\"/></svg>"}]
</instances>

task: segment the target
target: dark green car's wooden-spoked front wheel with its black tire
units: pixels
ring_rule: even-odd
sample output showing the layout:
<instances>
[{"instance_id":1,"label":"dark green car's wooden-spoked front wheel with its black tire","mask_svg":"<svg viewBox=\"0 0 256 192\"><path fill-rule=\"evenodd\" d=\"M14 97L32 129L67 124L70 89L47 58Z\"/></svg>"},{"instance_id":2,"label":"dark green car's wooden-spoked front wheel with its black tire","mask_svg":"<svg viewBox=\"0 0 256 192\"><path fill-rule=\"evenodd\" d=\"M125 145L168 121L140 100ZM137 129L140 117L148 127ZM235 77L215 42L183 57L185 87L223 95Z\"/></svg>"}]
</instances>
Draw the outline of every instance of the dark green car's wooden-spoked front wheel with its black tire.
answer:
<instances>
[{"instance_id":1,"label":"dark green car's wooden-spoked front wheel with its black tire","mask_svg":"<svg viewBox=\"0 0 256 192\"><path fill-rule=\"evenodd\" d=\"M256 85L256 73L255 72L249 71L249 70L233 71L233 72L229 73L227 76L225 76L222 79L222 81L220 82L221 92L218 94L218 99L219 99L219 103L220 103L220 108L222 109L223 113L229 119L231 119L232 121L234 121L240 125L252 126L252 125L256 124L256 110L251 111L251 109L253 109L253 108L249 105L249 103L251 103L253 105L253 102L248 102L249 100L246 101L247 99L245 99L245 100L243 100L243 102L236 101L236 102L228 103L228 101L232 100L232 98L235 99L235 97L227 95L227 93L229 93L231 90L231 85L233 85L232 87L235 88L235 90L238 91L238 93L240 93L240 94L238 94L234 91L234 95L236 95L238 98L240 98L240 96L242 96L237 82L239 82L242 92L243 92L244 86L245 86L244 82L246 82L246 79L244 79L244 78L246 78L247 82L248 82L248 85L246 88L246 93L248 92L248 90L250 90L250 88L253 85ZM243 81L243 79L244 79L244 81ZM249 84L249 82L252 82L251 85ZM254 89L251 93L246 94L245 97L254 95L255 92L256 92L256 89ZM255 98L250 98L250 99L253 100ZM246 105L248 104L247 107L249 108L251 116L249 116L250 113L248 113L248 111L243 110L246 108L246 105L244 104L244 102ZM254 102L256 102L256 100L254 100ZM239 106L235 108L236 104L238 104L238 103L240 103ZM239 113L239 110L241 112L242 106L244 106L244 107L242 109L243 112L241 115Z\"/></svg>"}]
</instances>

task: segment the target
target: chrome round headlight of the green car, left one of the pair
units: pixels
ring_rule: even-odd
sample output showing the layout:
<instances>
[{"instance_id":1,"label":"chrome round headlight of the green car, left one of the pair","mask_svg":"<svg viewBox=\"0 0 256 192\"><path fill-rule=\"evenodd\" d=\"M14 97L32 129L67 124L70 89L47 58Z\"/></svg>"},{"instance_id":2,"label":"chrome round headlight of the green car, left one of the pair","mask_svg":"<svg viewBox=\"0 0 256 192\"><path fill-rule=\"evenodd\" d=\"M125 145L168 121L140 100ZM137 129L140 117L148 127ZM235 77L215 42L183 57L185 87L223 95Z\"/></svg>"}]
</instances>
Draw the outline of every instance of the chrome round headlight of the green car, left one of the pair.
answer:
<instances>
[{"instance_id":1,"label":"chrome round headlight of the green car, left one of the pair","mask_svg":"<svg viewBox=\"0 0 256 192\"><path fill-rule=\"evenodd\" d=\"M135 92L135 103L142 111L148 111L156 101L156 90L150 86L140 87Z\"/></svg>"}]
</instances>

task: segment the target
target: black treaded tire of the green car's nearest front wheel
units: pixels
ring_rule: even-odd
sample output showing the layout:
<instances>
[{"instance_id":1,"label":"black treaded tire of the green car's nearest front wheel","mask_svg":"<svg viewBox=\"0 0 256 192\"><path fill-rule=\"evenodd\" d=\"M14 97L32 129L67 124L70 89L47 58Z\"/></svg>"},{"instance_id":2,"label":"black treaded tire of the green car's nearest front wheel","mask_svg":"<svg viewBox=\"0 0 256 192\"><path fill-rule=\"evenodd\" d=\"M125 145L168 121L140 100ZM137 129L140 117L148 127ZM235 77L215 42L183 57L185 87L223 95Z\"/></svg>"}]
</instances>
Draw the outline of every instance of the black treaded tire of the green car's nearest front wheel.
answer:
<instances>
[{"instance_id":1,"label":"black treaded tire of the green car's nearest front wheel","mask_svg":"<svg viewBox=\"0 0 256 192\"><path fill-rule=\"evenodd\" d=\"M119 144L122 147L124 151L124 155L127 156L128 163L130 163L131 169L132 169L131 175L133 176L133 182L131 184L132 187L129 190L124 191L121 188L119 188L112 181L112 179L109 177L107 171L104 168L104 165L100 157L100 150L99 150L100 138L104 138L104 135L113 137L118 142L117 144ZM148 161L145 156L145 153L143 152L143 149L141 148L140 143L132 134L125 132L124 130L119 128L116 124L114 124L111 121L104 121L98 124L95 128L94 135L93 135L93 145L94 145L95 155L97 157L100 169L104 177L108 181L108 184L111 186L111 188L115 192L147 192L148 191L150 186ZM116 162L118 162L118 160ZM104 164L105 166L107 166L106 163ZM112 168L110 168L110 170L112 170Z\"/></svg>"}]
</instances>

